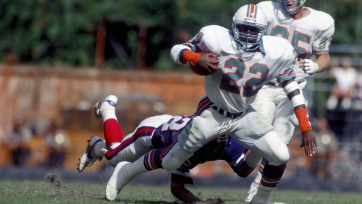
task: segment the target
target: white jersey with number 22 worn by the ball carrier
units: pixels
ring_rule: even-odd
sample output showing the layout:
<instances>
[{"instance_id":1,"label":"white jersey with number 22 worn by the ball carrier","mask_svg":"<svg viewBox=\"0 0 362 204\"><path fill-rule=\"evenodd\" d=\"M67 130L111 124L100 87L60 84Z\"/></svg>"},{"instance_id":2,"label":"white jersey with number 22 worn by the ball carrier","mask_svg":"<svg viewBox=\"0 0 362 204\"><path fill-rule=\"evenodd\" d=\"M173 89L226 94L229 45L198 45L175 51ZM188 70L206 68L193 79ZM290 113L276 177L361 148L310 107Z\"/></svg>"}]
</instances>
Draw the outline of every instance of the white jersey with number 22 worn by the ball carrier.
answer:
<instances>
[{"instance_id":1,"label":"white jersey with number 22 worn by the ball carrier","mask_svg":"<svg viewBox=\"0 0 362 204\"><path fill-rule=\"evenodd\" d=\"M232 113L245 111L270 80L281 83L295 78L296 52L280 37L263 36L259 51L245 52L237 49L230 30L214 25L202 28L188 43L174 46L171 58L176 63L185 48L215 54L219 69L205 77L205 92L215 105Z\"/></svg>"}]
</instances>

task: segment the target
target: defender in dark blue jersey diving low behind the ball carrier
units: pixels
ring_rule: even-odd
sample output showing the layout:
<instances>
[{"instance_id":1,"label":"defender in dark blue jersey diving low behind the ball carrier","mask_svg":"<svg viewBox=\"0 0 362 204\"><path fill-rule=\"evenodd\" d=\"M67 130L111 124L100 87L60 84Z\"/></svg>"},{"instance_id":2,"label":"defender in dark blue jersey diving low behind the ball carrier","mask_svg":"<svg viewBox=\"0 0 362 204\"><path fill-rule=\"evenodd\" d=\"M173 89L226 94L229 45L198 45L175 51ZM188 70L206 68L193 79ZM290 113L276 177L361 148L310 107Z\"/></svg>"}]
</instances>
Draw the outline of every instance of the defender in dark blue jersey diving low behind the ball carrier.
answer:
<instances>
[{"instance_id":1,"label":"defender in dark blue jersey diving low behind the ball carrier","mask_svg":"<svg viewBox=\"0 0 362 204\"><path fill-rule=\"evenodd\" d=\"M103 103L104 107L109 106L109 110L115 111L113 105L116 105L117 97L110 95L105 100L97 103L95 115L102 119L102 112L97 111ZM79 159L77 168L79 172L82 172L85 167L92 165L95 161L103 159L104 156L111 166L116 166L122 161L134 162L155 148L167 148L177 140L179 132L184 129L187 122L193 117L166 114L149 117L144 119L132 133L123 139L123 131L117 122L117 118L113 118L114 116L104 121L105 138L106 140L112 138L112 142L108 142L108 145L106 145L106 141L95 135L92 136L88 140L85 153ZM107 118L107 115L105 115L105 118ZM227 135L208 142L180 168L172 171L171 193L185 203L221 203L222 200L213 198L204 201L185 188L185 184L193 184L193 180L189 175L190 169L207 161L224 160L235 173L245 178L247 175L240 171L241 164L244 161L244 151L245 148Z\"/></svg>"}]
</instances>

